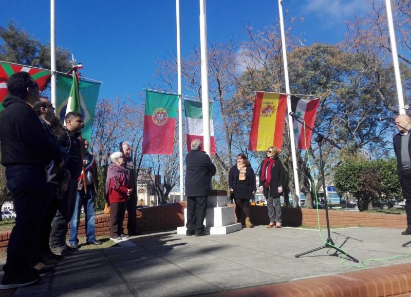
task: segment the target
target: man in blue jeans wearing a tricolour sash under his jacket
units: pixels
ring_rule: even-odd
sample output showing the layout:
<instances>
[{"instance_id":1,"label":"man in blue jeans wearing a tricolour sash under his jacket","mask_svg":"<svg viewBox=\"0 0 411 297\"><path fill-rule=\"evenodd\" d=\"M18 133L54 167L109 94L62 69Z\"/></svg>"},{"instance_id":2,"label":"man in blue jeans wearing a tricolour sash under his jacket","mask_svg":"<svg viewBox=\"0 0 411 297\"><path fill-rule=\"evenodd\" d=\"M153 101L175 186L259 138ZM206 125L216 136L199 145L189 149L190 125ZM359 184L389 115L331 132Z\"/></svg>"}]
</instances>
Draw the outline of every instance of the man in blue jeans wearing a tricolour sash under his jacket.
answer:
<instances>
[{"instance_id":1,"label":"man in blue jeans wearing a tricolour sash under his jacket","mask_svg":"<svg viewBox=\"0 0 411 297\"><path fill-rule=\"evenodd\" d=\"M95 221L96 221L96 195L99 190L99 180L97 176L97 164L92 154L88 152L88 140L83 139L83 172L77 179L77 196L76 206L74 206L73 216L70 221L70 240L69 246L77 248L79 239L77 232L79 229L81 208L84 207L85 222L86 222L86 237L87 244L101 245L102 243L96 240ZM86 187L84 187L84 182Z\"/></svg>"}]
</instances>

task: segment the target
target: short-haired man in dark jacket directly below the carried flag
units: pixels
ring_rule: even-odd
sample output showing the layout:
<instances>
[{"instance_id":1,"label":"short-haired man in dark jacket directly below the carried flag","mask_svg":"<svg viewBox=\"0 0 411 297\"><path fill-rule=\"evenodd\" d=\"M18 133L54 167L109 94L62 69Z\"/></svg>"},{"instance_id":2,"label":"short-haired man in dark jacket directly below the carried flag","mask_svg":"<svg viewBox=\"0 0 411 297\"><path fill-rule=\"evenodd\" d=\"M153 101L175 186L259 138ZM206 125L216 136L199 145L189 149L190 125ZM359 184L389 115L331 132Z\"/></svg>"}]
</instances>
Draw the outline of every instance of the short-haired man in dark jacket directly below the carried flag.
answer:
<instances>
[{"instance_id":1,"label":"short-haired man in dark jacket directly below the carried flag","mask_svg":"<svg viewBox=\"0 0 411 297\"><path fill-rule=\"evenodd\" d=\"M59 143L67 151L68 157L65 168L70 172L67 190L63 194L57 213L51 224L51 251L56 255L69 255L76 249L66 245L67 224L70 222L76 205L77 178L79 177L83 158L79 141L80 131L84 127L81 113L71 111L66 114L62 135L59 136Z\"/></svg>"}]
</instances>

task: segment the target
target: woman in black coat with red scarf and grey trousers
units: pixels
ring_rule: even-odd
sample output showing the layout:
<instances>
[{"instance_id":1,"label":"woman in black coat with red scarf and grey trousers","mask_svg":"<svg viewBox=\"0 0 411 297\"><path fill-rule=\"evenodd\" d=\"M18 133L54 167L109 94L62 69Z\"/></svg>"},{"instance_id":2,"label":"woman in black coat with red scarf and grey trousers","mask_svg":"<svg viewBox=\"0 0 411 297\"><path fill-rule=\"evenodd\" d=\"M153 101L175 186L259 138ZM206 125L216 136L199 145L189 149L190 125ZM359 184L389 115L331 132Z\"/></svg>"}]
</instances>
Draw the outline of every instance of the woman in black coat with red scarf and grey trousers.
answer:
<instances>
[{"instance_id":1,"label":"woman in black coat with red scarf and grey trousers","mask_svg":"<svg viewBox=\"0 0 411 297\"><path fill-rule=\"evenodd\" d=\"M266 159L260 166L259 190L267 200L268 217L270 224L267 228L281 228L281 201L283 193L284 167L278 159L279 150L272 146L267 150Z\"/></svg>"}]
</instances>

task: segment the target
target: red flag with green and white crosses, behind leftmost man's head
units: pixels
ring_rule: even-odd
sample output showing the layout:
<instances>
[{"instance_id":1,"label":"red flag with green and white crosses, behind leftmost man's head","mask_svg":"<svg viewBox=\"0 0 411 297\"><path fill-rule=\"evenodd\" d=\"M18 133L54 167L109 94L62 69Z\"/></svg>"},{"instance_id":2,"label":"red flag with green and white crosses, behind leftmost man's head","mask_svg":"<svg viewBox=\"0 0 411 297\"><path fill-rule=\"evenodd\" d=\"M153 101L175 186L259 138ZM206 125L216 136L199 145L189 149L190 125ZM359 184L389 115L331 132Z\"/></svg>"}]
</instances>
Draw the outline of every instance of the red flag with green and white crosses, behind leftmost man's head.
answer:
<instances>
[{"instance_id":1,"label":"red flag with green and white crosses, behind leftmost man's head","mask_svg":"<svg viewBox=\"0 0 411 297\"><path fill-rule=\"evenodd\" d=\"M43 90L50 78L51 72L49 70L32 68L24 65L17 65L8 62L0 62L0 103L9 94L7 90L7 81L9 77L17 72L28 72L34 81L39 85L39 90ZM4 109L0 104L0 111Z\"/></svg>"}]
</instances>

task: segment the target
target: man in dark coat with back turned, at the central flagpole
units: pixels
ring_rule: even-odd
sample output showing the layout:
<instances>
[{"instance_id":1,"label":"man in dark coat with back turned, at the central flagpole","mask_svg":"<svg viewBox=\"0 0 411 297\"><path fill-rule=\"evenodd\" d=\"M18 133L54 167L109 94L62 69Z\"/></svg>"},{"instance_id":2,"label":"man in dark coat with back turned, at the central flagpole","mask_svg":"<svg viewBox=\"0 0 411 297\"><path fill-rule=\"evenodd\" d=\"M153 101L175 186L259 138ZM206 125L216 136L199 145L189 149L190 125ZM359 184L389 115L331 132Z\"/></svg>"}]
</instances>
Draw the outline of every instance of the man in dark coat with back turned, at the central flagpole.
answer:
<instances>
[{"instance_id":1,"label":"man in dark coat with back turned, at the central flagpole","mask_svg":"<svg viewBox=\"0 0 411 297\"><path fill-rule=\"evenodd\" d=\"M207 195L211 177L216 168L210 157L201 151L201 141L191 142L191 151L185 155L185 195L187 196L186 235L203 236L207 211Z\"/></svg>"}]
</instances>

